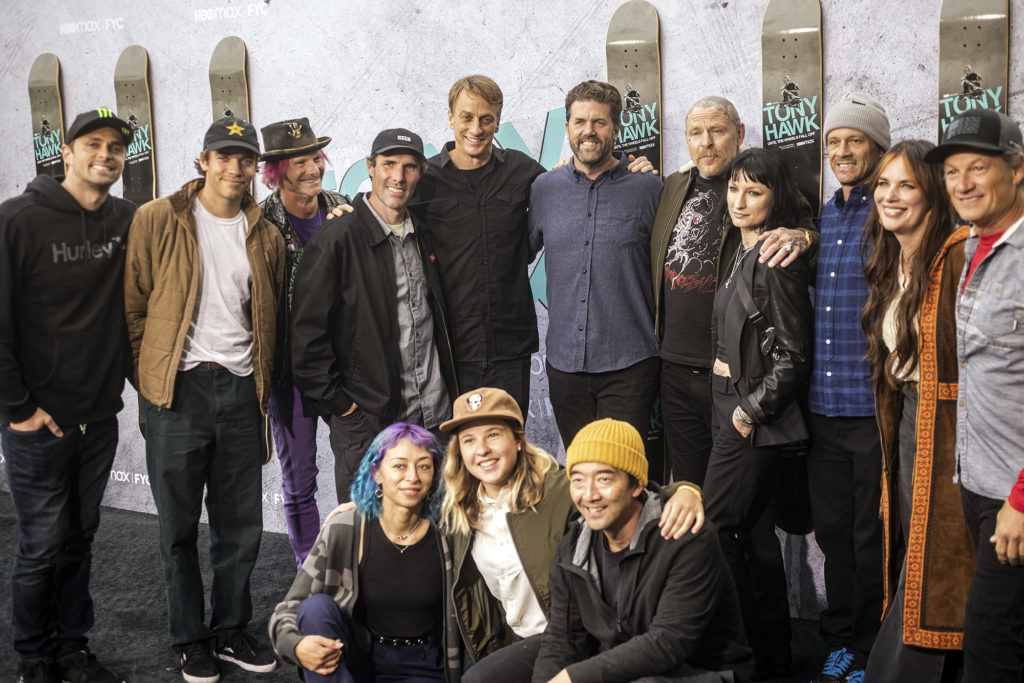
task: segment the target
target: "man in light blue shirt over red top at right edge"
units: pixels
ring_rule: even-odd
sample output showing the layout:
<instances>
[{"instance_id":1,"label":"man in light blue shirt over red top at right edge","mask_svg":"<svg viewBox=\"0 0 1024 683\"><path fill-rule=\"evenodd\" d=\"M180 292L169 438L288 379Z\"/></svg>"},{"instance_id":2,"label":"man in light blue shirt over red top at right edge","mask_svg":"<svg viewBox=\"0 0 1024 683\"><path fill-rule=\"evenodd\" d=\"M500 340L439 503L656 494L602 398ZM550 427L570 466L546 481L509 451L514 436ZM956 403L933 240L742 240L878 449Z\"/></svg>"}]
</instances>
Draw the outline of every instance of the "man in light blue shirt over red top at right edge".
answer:
<instances>
[{"instance_id":1,"label":"man in light blue shirt over red top at right edge","mask_svg":"<svg viewBox=\"0 0 1024 683\"><path fill-rule=\"evenodd\" d=\"M925 160L970 221L956 302L956 463L976 564L964 616L964 680L1024 671L1024 139L1009 117L972 110Z\"/></svg>"}]
</instances>

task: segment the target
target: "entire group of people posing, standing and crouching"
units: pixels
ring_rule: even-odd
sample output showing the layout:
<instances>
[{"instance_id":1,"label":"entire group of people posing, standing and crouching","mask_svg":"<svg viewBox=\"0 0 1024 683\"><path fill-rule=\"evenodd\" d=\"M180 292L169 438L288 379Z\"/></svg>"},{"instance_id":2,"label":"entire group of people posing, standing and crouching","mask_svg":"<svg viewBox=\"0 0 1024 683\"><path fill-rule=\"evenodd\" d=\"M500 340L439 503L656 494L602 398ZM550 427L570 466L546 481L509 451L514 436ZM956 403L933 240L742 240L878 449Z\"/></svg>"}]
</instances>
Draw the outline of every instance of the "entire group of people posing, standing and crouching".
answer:
<instances>
[{"instance_id":1,"label":"entire group of people posing, standing and crouching","mask_svg":"<svg viewBox=\"0 0 1024 683\"><path fill-rule=\"evenodd\" d=\"M783 676L772 494L794 457L825 558L816 681L1019 681L1017 124L972 110L938 146L893 145L884 108L849 93L822 127L841 186L815 219L727 99L691 106L692 162L664 183L614 151L622 102L571 88L572 158L545 172L495 145L498 85L460 79L455 139L428 160L382 131L355 198L323 188L331 138L307 119L261 148L228 117L200 177L137 211L110 196L130 126L77 117L66 177L0 206L18 680L122 680L87 632L128 378L190 683L274 652L306 681ZM564 467L525 438L542 248ZM658 395L664 458L641 436ZM350 503L323 527L321 419ZM298 572L271 651L247 628L274 450Z\"/></svg>"}]
</instances>

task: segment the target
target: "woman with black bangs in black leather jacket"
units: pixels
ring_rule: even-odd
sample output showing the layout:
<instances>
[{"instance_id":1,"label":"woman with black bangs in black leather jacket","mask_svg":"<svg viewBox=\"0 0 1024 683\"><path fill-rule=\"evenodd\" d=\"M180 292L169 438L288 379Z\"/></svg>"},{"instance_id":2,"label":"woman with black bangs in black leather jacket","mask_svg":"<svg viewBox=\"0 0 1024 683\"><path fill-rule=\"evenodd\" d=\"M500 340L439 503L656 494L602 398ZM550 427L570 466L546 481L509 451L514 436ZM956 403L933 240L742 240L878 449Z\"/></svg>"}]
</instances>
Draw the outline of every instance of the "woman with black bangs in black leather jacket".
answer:
<instances>
[{"instance_id":1,"label":"woman with black bangs in black leather jacket","mask_svg":"<svg viewBox=\"0 0 1024 683\"><path fill-rule=\"evenodd\" d=\"M810 370L810 275L804 259L784 268L758 259L758 236L799 217L798 190L782 161L749 150L728 174L731 224L712 319L707 516L736 582L758 673L774 677L791 664L790 608L769 502L780 447L807 438L797 395Z\"/></svg>"}]
</instances>

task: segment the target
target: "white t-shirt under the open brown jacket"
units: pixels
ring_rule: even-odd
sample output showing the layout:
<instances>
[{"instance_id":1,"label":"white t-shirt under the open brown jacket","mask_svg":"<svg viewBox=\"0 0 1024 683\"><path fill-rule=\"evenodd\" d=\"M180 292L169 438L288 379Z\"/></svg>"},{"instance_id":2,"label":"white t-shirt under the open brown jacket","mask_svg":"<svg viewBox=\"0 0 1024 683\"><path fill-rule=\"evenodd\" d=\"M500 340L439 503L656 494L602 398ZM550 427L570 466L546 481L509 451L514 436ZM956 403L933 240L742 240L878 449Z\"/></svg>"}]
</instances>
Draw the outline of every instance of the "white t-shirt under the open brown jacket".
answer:
<instances>
[{"instance_id":1,"label":"white t-shirt under the open brown jacket","mask_svg":"<svg viewBox=\"0 0 1024 683\"><path fill-rule=\"evenodd\" d=\"M233 375L252 374L252 268L246 254L249 221L244 213L219 218L196 198L199 292L185 336L180 370L216 362Z\"/></svg>"}]
</instances>

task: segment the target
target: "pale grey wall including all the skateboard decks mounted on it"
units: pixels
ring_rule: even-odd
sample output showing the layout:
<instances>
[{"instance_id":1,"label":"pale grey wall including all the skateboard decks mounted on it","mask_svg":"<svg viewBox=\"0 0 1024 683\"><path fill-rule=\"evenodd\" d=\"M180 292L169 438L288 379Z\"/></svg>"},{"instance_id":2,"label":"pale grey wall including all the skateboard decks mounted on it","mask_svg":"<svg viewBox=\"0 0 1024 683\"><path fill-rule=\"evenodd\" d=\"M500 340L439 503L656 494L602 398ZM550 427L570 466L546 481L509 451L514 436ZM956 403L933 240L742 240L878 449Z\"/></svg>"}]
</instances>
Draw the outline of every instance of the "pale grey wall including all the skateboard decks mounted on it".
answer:
<instances>
[{"instance_id":1,"label":"pale grey wall including all the skateboard decks mounted on it","mask_svg":"<svg viewBox=\"0 0 1024 683\"><path fill-rule=\"evenodd\" d=\"M37 172L60 172L65 125L95 106L137 126L125 179L114 188L133 201L169 194L194 176L203 133L225 106L257 127L308 117L318 135L334 138L325 184L351 194L366 178L364 158L379 130L411 128L433 150L451 139L447 89L470 73L492 76L505 91L499 143L547 167L568 155L562 105L582 80L620 86L621 141L666 174L688 161L687 108L703 95L725 95L746 123L746 142L788 155L815 204L819 187L825 199L836 189L820 163L822 113L850 90L883 102L894 140L935 139L951 114L973 106L1024 113L1021 73L1011 69L1008 78L1006 67L1008 54L1009 63L1024 62L1022 28L1014 20L1024 0L1009 0L1002 34L998 17L1008 0L945 0L945 7L923 0L896 11L884 0L653 0L630 12L622 5L13 0L0 28L0 121L7 132L0 195L20 193ZM953 16L961 6L974 15ZM257 199L266 195L258 183L255 189ZM532 364L528 432L561 453L544 376L543 255L531 283L542 348ZM105 503L154 512L130 387L125 404ZM319 465L318 500L327 511L335 499L326 429ZM266 528L283 531L276 461L264 469L263 496ZM795 611L813 615L820 556L803 537L784 543Z\"/></svg>"}]
</instances>

